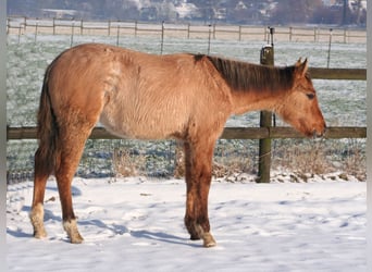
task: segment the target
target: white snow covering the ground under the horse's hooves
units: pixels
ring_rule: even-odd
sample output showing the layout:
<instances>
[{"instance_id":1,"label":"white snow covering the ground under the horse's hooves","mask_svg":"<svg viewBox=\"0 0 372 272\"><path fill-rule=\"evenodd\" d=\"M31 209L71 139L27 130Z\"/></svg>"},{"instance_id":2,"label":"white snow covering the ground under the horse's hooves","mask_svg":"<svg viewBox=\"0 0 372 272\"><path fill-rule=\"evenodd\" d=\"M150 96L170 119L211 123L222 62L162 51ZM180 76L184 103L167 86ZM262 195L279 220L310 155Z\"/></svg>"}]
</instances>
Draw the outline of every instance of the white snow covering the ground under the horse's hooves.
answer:
<instances>
[{"instance_id":1,"label":"white snow covering the ground under the horse's hooves","mask_svg":"<svg viewBox=\"0 0 372 272\"><path fill-rule=\"evenodd\" d=\"M46 191L48 237L32 237L33 185L9 185L9 271L365 271L365 183L315 178L271 184L213 181L213 248L183 224L185 182L147 177L73 182L85 242L62 230L54 181Z\"/></svg>"}]
</instances>

